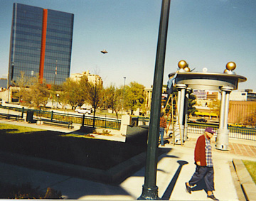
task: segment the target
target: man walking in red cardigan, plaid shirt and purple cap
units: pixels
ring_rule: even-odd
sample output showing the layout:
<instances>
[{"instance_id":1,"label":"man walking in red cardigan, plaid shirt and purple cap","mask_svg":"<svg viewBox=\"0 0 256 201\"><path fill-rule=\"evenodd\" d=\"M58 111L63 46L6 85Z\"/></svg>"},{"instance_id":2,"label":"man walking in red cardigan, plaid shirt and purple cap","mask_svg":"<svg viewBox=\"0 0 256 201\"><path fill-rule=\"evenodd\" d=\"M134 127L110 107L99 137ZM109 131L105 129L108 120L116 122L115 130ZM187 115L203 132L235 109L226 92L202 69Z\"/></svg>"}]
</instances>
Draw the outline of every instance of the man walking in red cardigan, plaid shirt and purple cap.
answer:
<instances>
[{"instance_id":1,"label":"man walking in red cardigan, plaid shirt and purple cap","mask_svg":"<svg viewBox=\"0 0 256 201\"><path fill-rule=\"evenodd\" d=\"M218 200L213 195L214 181L213 181L213 157L210 146L210 138L213 137L213 128L207 127L205 134L200 136L196 141L195 148L195 164L196 172L193 174L191 180L186 185L186 191L191 194L191 187L198 184L202 179L206 183L207 197L212 200Z\"/></svg>"}]
</instances>

